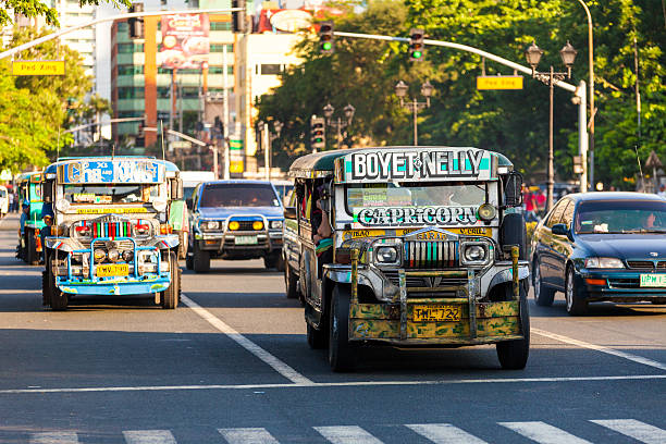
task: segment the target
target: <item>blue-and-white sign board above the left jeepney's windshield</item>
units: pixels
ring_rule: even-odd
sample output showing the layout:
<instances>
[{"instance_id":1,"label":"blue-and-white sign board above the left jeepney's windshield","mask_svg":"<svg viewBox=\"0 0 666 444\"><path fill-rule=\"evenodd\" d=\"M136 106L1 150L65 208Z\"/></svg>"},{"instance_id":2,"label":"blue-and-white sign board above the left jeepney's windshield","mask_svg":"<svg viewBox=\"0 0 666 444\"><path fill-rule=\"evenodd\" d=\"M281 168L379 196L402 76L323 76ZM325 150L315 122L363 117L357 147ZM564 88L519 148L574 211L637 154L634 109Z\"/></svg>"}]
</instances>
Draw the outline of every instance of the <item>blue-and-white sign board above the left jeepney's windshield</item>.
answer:
<instances>
[{"instance_id":1,"label":"blue-and-white sign board above the left jeepney's windshield","mask_svg":"<svg viewBox=\"0 0 666 444\"><path fill-rule=\"evenodd\" d=\"M58 180L62 184L158 184L164 182L164 165L137 159L78 160L59 165Z\"/></svg>"}]
</instances>

